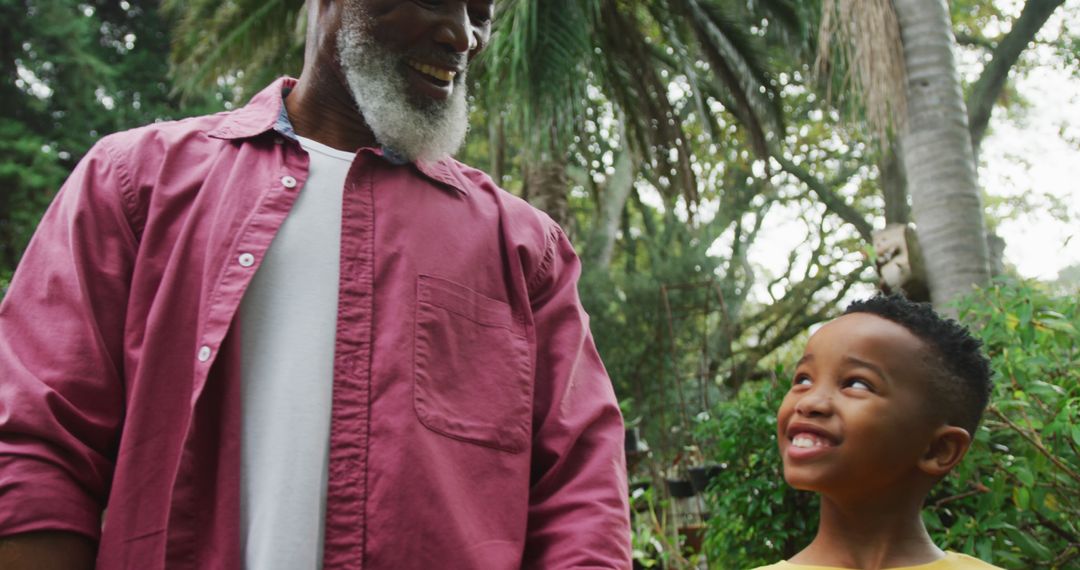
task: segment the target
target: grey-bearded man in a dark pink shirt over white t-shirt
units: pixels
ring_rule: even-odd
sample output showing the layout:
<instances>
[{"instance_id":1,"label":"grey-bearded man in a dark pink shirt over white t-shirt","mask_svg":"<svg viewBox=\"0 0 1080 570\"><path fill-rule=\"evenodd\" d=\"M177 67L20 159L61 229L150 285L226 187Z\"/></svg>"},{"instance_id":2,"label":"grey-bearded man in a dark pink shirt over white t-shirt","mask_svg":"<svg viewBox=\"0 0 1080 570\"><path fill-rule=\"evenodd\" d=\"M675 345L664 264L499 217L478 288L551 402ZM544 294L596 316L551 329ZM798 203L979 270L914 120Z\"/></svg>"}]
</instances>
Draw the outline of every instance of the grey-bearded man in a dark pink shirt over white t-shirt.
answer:
<instances>
[{"instance_id":1,"label":"grey-bearded man in a dark pink shirt over white t-shirt","mask_svg":"<svg viewBox=\"0 0 1080 570\"><path fill-rule=\"evenodd\" d=\"M630 567L578 260L449 158L492 10L309 0L298 81L90 151L0 307L0 568Z\"/></svg>"}]
</instances>

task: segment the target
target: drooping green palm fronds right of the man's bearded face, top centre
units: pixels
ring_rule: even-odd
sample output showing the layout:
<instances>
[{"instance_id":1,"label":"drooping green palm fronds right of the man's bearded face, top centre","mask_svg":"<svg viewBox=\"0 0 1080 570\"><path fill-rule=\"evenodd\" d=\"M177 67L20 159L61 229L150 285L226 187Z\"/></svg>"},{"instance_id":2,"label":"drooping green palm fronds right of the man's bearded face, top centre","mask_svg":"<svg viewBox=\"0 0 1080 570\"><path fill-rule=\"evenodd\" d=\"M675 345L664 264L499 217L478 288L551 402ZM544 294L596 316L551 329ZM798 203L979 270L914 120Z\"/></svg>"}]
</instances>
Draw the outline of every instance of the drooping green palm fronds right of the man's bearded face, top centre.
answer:
<instances>
[{"instance_id":1,"label":"drooping green palm fronds right of the man's bearded face, top centre","mask_svg":"<svg viewBox=\"0 0 1080 570\"><path fill-rule=\"evenodd\" d=\"M598 253L600 264L610 259L638 175L672 205L679 198L691 206L699 200L691 138L718 138L715 105L737 120L759 157L768 154L783 121L766 65L767 35L755 24L762 28L767 16L772 36L804 43L807 36L801 9L791 0L504 0L498 14L482 60L483 106L525 141L527 198L568 225L568 179L558 173L575 159L589 163L616 151L620 174L595 192L593 227L604 231L590 241L603 243L586 248ZM675 78L693 105L672 104ZM619 124L597 137L595 122L585 118L605 106Z\"/></svg>"}]
</instances>

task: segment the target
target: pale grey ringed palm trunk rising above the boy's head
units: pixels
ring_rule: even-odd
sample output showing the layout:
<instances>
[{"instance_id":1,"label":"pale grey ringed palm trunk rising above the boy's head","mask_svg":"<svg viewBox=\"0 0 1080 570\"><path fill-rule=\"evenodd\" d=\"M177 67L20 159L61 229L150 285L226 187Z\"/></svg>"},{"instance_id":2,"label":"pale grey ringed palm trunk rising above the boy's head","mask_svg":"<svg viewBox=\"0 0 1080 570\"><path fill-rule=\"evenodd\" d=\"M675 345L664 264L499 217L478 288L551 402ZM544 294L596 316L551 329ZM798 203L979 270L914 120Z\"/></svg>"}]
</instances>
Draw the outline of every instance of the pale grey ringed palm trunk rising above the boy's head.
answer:
<instances>
[{"instance_id":1,"label":"pale grey ringed palm trunk rising above the boy's head","mask_svg":"<svg viewBox=\"0 0 1080 570\"><path fill-rule=\"evenodd\" d=\"M949 301L989 281L983 203L956 69L946 0L893 0L907 65L907 127L901 136L912 214L930 296Z\"/></svg>"}]
</instances>

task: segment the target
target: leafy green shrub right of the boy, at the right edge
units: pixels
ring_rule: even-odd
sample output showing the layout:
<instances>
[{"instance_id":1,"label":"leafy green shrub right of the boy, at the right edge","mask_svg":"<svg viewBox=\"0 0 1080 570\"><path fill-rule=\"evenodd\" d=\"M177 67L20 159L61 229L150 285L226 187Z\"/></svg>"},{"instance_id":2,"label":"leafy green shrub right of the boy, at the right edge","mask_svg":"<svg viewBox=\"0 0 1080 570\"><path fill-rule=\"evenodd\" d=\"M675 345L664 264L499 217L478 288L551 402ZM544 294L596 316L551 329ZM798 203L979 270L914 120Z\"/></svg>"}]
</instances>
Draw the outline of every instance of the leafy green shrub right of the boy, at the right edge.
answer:
<instances>
[{"instance_id":1,"label":"leafy green shrub right of the boy, at the right edge","mask_svg":"<svg viewBox=\"0 0 1080 570\"><path fill-rule=\"evenodd\" d=\"M1080 560L1080 309L998 281L959 303L986 343L995 390L975 443L928 500L939 545L1005 568Z\"/></svg>"}]
</instances>

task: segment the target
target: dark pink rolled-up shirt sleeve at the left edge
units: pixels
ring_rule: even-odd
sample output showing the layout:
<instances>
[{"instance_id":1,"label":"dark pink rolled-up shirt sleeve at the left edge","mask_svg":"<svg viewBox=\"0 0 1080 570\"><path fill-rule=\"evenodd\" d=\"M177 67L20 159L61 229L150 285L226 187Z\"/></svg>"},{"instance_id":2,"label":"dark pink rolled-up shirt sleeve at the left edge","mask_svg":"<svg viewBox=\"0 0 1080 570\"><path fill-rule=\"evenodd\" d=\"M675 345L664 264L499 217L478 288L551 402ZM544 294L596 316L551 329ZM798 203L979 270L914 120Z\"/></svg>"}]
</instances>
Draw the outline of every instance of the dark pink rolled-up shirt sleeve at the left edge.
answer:
<instances>
[{"instance_id":1,"label":"dark pink rolled-up shirt sleeve at the left edge","mask_svg":"<svg viewBox=\"0 0 1080 570\"><path fill-rule=\"evenodd\" d=\"M0 303L0 537L99 535L136 249L124 180L99 142L58 192Z\"/></svg>"}]
</instances>

